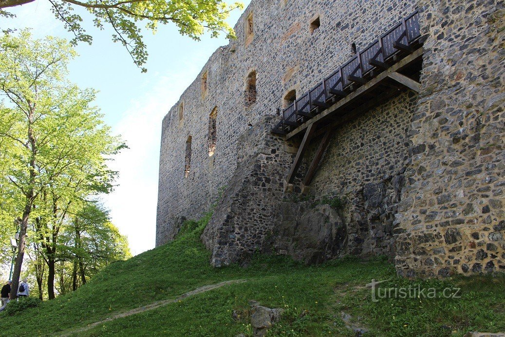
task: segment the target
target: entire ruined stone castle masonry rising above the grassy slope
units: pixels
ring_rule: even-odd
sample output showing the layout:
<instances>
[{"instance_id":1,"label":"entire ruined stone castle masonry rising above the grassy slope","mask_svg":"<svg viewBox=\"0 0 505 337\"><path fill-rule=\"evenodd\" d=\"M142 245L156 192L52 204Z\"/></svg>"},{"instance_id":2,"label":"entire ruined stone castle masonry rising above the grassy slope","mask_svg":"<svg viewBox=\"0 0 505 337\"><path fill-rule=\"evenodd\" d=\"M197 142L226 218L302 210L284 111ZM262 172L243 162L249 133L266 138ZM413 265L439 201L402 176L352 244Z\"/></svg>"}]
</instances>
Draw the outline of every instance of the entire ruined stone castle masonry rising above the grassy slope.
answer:
<instances>
[{"instance_id":1,"label":"entire ruined stone castle masonry rising above the grassy slope","mask_svg":"<svg viewBox=\"0 0 505 337\"><path fill-rule=\"evenodd\" d=\"M253 0L163 120L157 245L505 271L503 1Z\"/></svg>"}]
</instances>

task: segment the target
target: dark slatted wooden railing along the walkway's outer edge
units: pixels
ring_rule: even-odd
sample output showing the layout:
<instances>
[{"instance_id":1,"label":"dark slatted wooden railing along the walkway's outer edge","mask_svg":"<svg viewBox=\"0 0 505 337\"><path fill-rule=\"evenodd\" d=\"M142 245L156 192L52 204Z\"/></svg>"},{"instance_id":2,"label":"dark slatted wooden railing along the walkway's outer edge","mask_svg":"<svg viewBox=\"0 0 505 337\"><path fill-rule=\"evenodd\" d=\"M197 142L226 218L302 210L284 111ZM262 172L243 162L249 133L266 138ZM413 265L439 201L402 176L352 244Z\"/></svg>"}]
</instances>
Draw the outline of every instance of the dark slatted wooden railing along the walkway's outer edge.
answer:
<instances>
[{"instance_id":1,"label":"dark slatted wooden railing along the walkway's outer edge","mask_svg":"<svg viewBox=\"0 0 505 337\"><path fill-rule=\"evenodd\" d=\"M282 120L272 132L286 134L329 108L397 62L402 55L412 53L419 46L420 37L419 12L416 11L284 109Z\"/></svg>"}]
</instances>

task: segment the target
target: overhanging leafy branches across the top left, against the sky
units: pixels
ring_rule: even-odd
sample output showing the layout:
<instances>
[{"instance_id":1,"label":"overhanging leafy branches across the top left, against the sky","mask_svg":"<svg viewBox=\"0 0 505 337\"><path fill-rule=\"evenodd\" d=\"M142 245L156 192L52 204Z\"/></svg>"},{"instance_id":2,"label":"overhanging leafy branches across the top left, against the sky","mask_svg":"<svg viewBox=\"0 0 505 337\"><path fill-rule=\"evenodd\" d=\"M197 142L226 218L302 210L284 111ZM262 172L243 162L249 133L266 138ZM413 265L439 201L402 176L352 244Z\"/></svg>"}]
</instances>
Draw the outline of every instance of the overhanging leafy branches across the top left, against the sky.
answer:
<instances>
[{"instance_id":1,"label":"overhanging leafy branches across the top left, against the sky","mask_svg":"<svg viewBox=\"0 0 505 337\"><path fill-rule=\"evenodd\" d=\"M212 37L224 32L228 38L235 37L233 29L226 23L229 13L242 9L243 5L227 5L222 0L48 0L57 19L74 34L73 43L83 41L91 44L92 37L81 26L82 18L73 6L87 9L94 16L93 24L104 29L110 24L114 30L112 40L126 47L135 65L142 67L147 60L146 46L142 41L141 30L137 23L145 22L145 27L153 33L159 24L173 22L182 35L199 40L207 29ZM12 14L6 8L23 6L34 0L0 0L0 17Z\"/></svg>"}]
</instances>

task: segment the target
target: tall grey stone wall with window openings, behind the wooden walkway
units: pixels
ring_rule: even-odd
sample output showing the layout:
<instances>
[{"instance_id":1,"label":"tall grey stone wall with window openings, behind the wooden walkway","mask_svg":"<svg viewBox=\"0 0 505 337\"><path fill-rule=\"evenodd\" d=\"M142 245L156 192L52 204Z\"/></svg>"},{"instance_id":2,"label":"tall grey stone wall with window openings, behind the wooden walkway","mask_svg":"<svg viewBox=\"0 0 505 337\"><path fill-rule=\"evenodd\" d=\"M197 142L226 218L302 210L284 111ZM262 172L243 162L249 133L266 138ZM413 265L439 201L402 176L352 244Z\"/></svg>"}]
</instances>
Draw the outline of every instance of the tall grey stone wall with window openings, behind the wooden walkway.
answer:
<instances>
[{"instance_id":1,"label":"tall grey stone wall with window openings, behind the wooden walkway","mask_svg":"<svg viewBox=\"0 0 505 337\"><path fill-rule=\"evenodd\" d=\"M255 0L238 20L236 40L218 49L163 120L157 214L157 245L172 239L185 218L208 210L236 168L237 140L264 115L277 115L284 95L299 96L358 49L414 12L416 1ZM245 21L252 13L252 33ZM320 27L310 24L319 16ZM246 43L247 42L247 43ZM256 71L256 101L246 107L247 78ZM201 79L207 77L207 92ZM183 118L179 107L183 103ZM217 141L208 151L209 116L217 107ZM186 140L191 168L184 178Z\"/></svg>"}]
</instances>

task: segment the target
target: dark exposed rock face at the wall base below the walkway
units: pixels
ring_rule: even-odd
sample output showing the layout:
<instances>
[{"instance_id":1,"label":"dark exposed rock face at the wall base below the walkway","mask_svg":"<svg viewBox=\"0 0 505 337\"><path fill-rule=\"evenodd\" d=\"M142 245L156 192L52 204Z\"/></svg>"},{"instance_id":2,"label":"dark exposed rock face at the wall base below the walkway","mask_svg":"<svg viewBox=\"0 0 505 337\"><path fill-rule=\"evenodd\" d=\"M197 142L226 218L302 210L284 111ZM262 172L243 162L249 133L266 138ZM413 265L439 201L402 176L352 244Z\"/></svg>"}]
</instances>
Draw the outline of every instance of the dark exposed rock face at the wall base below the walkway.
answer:
<instances>
[{"instance_id":1,"label":"dark exposed rock face at the wall base below the walkway","mask_svg":"<svg viewBox=\"0 0 505 337\"><path fill-rule=\"evenodd\" d=\"M394 215L403 184L401 174L367 183L342 209L317 200L281 203L282 221L273 232L274 250L306 263L347 254L393 258Z\"/></svg>"}]
</instances>

